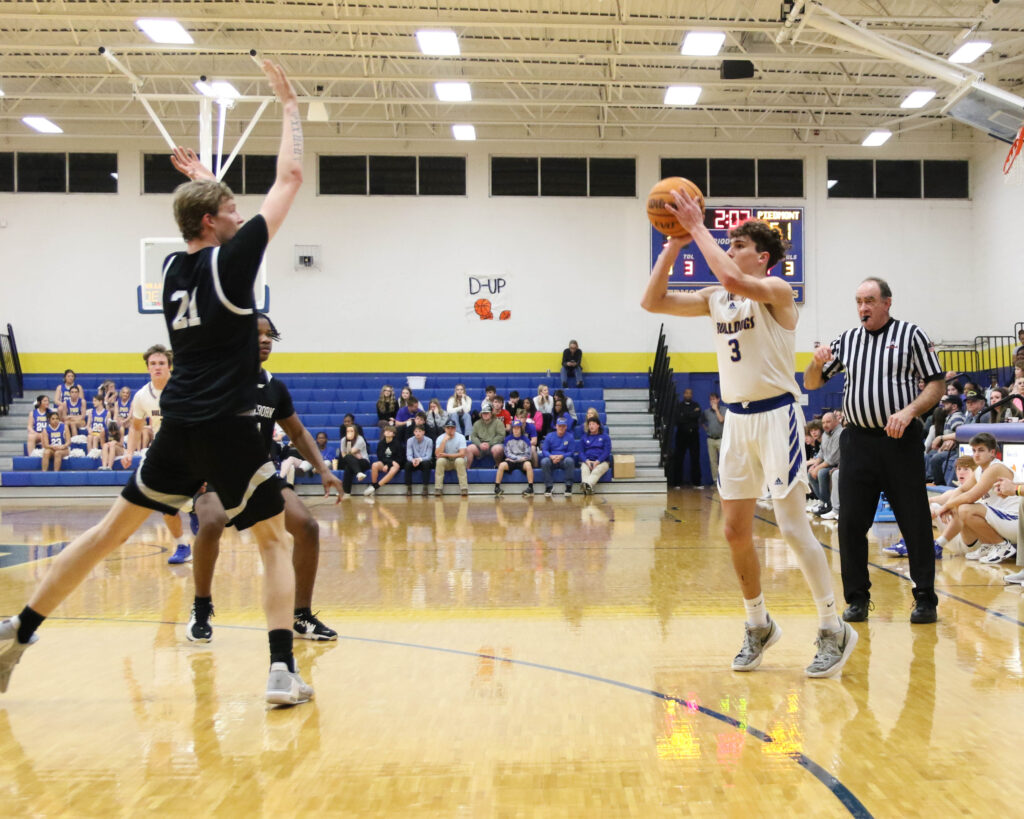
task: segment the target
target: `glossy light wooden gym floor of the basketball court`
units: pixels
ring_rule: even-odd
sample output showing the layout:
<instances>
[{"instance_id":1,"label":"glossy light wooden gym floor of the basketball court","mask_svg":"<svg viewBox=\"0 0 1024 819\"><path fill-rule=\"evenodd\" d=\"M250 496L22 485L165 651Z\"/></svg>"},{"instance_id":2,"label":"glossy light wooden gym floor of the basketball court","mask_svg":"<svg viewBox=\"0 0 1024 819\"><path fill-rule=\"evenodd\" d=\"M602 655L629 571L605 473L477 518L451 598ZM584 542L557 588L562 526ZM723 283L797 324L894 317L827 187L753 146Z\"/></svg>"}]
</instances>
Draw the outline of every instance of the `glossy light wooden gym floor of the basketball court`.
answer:
<instances>
[{"instance_id":1,"label":"glossy light wooden gym floor of the basketball court","mask_svg":"<svg viewBox=\"0 0 1024 819\"><path fill-rule=\"evenodd\" d=\"M0 505L0 613L109 502ZM184 639L189 566L160 518L45 623L0 695L3 816L1012 816L1024 784L1020 587L946 558L937 626L906 562L839 680L809 680L816 615L759 510L785 634L729 670L742 606L710 490L316 500L297 641L316 699L268 709L259 565L225 534L214 640ZM835 528L815 527L839 586ZM880 530L882 537L891 532Z\"/></svg>"}]
</instances>

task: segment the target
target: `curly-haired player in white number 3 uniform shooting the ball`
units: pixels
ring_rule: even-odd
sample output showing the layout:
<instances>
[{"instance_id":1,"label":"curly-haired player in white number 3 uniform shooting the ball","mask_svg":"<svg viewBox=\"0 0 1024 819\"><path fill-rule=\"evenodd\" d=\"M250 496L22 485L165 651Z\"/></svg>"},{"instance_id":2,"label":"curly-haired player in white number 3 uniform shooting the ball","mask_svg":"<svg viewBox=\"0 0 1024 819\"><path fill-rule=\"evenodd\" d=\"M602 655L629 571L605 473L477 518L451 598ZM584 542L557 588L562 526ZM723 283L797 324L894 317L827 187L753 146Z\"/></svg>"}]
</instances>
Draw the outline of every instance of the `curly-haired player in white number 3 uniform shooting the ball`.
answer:
<instances>
[{"instance_id":1,"label":"curly-haired player in white number 3 uniform shooting the ball","mask_svg":"<svg viewBox=\"0 0 1024 819\"><path fill-rule=\"evenodd\" d=\"M674 190L673 202L667 208L689 238L666 242L641 306L653 313L712 319L722 400L729 410L722 433L719 492L725 537L746 610L743 645L732 669L757 669L765 650L782 635L765 606L754 549L754 513L767 484L779 529L818 609L817 651L807 675L835 676L852 653L857 633L836 614L828 563L804 514L804 419L795 405L800 387L794 377L797 305L790 286L768 275L784 257L785 245L767 223L752 219L729 231L725 251L705 227L703 212L693 199ZM696 293L669 293L672 267L690 238L721 285Z\"/></svg>"}]
</instances>

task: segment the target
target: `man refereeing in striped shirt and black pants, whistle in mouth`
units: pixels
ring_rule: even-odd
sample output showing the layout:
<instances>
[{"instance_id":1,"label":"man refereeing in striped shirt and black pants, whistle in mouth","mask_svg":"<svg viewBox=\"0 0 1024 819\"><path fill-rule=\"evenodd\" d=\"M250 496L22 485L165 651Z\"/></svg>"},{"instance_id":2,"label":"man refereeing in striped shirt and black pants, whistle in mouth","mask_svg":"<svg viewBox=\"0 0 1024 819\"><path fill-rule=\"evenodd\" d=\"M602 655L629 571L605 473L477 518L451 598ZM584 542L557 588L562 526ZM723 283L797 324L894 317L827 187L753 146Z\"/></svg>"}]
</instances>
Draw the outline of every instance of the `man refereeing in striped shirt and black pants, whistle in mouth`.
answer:
<instances>
[{"instance_id":1,"label":"man refereeing in striped shirt and black pants, whistle in mouth","mask_svg":"<svg viewBox=\"0 0 1024 819\"><path fill-rule=\"evenodd\" d=\"M935 622L935 547L925 488L924 425L918 418L942 395L944 375L928 335L916 325L889 315L892 291L883 279L857 288L860 327L818 347L804 372L804 388L816 390L846 370L843 413L848 426L840 439L839 551L843 619L867 619L867 530L879 492L885 492L906 540L913 580L910 622ZM926 382L919 392L918 381Z\"/></svg>"}]
</instances>

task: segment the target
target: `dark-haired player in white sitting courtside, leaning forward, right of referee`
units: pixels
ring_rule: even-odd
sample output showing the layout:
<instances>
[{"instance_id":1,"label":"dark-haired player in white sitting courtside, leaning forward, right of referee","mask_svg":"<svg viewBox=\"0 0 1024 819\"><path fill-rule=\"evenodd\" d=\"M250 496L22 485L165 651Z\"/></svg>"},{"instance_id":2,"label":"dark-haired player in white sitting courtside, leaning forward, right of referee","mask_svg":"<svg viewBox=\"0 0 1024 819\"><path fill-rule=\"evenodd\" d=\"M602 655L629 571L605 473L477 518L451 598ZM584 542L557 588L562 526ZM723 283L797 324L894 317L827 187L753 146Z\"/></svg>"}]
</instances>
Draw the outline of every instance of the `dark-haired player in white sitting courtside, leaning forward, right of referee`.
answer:
<instances>
[{"instance_id":1,"label":"dark-haired player in white sitting courtside, leaning forward, right of referee","mask_svg":"<svg viewBox=\"0 0 1024 819\"><path fill-rule=\"evenodd\" d=\"M977 468L962 485L940 494L932 505L932 517L945 522L936 547L945 546L959 533L968 548L968 560L1001 563L1017 556L1017 517L1020 504L1016 498L1002 498L993 489L998 480L1013 480L1014 473L996 460L995 438L982 432L971 438ZM938 551L938 549L936 550Z\"/></svg>"}]
</instances>

